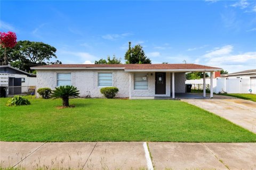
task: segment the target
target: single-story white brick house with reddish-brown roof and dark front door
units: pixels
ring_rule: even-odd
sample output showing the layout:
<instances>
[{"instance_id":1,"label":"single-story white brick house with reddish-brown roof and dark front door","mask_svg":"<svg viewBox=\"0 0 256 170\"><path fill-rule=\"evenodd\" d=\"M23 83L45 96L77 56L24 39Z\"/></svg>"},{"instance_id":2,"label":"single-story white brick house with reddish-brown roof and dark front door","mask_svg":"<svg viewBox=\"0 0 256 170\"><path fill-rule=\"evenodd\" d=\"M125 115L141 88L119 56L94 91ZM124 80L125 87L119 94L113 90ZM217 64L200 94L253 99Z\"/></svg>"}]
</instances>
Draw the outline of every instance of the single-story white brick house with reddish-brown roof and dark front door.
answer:
<instances>
[{"instance_id":1,"label":"single-story white brick house with reddish-brown roof and dark front door","mask_svg":"<svg viewBox=\"0 0 256 170\"><path fill-rule=\"evenodd\" d=\"M91 97L103 97L102 87L117 87L116 97L130 99L175 98L175 93L185 92L186 72L211 72L213 79L213 72L221 70L197 64L55 64L31 69L37 71L37 88L73 85L81 97L89 91Z\"/></svg>"}]
</instances>

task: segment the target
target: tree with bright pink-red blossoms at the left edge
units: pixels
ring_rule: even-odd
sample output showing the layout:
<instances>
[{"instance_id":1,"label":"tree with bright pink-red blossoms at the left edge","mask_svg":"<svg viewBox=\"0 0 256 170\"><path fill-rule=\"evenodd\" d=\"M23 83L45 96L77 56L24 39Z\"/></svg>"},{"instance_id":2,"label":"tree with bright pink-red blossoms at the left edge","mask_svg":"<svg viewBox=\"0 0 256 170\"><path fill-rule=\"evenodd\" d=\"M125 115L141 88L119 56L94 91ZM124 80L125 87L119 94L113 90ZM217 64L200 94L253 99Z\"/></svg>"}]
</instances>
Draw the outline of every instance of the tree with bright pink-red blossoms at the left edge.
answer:
<instances>
[{"instance_id":1,"label":"tree with bright pink-red blossoms at the left edge","mask_svg":"<svg viewBox=\"0 0 256 170\"><path fill-rule=\"evenodd\" d=\"M13 48L17 44L17 37L14 32L0 32L0 46L4 48L4 65L6 65L6 48Z\"/></svg>"}]
</instances>

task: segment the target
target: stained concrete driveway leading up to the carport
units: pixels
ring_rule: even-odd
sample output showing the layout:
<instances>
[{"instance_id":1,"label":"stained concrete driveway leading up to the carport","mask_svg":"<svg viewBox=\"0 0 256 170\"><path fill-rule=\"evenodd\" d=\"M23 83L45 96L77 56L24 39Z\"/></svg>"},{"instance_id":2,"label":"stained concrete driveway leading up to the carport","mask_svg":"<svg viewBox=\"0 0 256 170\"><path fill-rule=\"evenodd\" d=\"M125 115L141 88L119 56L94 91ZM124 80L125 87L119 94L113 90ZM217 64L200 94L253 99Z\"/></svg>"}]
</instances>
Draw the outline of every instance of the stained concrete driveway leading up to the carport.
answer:
<instances>
[{"instance_id":1,"label":"stained concrete driveway leading up to the carport","mask_svg":"<svg viewBox=\"0 0 256 170\"><path fill-rule=\"evenodd\" d=\"M181 99L189 104L226 118L243 128L256 133L256 103L234 97L213 99ZM214 96L214 97L215 97Z\"/></svg>"}]
</instances>

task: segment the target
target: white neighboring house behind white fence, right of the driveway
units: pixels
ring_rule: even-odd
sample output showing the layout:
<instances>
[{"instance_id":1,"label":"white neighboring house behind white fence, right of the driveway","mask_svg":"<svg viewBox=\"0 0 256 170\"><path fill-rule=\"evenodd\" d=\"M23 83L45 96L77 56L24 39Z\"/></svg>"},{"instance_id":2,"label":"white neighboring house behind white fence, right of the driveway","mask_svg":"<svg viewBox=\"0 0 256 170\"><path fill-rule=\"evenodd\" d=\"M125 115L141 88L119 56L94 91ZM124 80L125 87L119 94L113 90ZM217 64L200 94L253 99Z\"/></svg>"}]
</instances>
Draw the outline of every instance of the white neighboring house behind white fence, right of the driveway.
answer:
<instances>
[{"instance_id":1,"label":"white neighboring house behind white fence, right of the driveway","mask_svg":"<svg viewBox=\"0 0 256 170\"><path fill-rule=\"evenodd\" d=\"M217 79L217 91L229 94L256 94L256 69L224 74Z\"/></svg>"}]
</instances>

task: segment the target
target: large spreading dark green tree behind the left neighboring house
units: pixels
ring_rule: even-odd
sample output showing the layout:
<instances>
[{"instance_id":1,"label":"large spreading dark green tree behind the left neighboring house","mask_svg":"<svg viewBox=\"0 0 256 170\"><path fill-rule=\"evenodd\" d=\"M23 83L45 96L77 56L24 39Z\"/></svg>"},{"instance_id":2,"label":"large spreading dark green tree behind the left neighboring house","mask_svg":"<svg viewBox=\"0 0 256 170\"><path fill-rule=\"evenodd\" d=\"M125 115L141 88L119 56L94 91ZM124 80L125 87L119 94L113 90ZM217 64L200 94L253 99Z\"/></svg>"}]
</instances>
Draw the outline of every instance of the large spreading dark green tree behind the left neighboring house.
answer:
<instances>
[{"instance_id":1,"label":"large spreading dark green tree behind the left neighboring house","mask_svg":"<svg viewBox=\"0 0 256 170\"><path fill-rule=\"evenodd\" d=\"M0 49L2 52L3 49ZM18 41L17 45L9 49L7 57L10 64L22 71L32 72L30 67L46 64L61 64L60 61L50 62L52 57L57 58L55 55L56 48L41 42L33 41ZM3 55L0 55L0 62L3 62Z\"/></svg>"}]
</instances>

